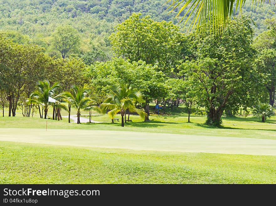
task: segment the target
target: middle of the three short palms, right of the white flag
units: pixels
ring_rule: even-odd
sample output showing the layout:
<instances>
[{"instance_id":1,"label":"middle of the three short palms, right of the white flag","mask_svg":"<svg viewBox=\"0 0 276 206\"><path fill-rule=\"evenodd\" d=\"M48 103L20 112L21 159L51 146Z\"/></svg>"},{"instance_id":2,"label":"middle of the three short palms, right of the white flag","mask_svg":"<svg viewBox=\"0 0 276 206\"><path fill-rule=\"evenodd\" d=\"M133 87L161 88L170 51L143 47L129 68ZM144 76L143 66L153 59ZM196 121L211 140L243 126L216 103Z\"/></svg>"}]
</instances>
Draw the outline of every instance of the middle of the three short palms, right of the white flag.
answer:
<instances>
[{"instance_id":1,"label":"middle of the three short palms, right of the white flag","mask_svg":"<svg viewBox=\"0 0 276 206\"><path fill-rule=\"evenodd\" d=\"M80 124L80 115L83 110L96 110L101 112L97 106L89 106L92 101L97 101L95 96L88 97L87 87L78 87L74 85L71 92L64 92L62 94L65 97L65 101L70 103L72 107L77 109L77 124ZM69 116L70 118L70 116Z\"/></svg>"}]
</instances>

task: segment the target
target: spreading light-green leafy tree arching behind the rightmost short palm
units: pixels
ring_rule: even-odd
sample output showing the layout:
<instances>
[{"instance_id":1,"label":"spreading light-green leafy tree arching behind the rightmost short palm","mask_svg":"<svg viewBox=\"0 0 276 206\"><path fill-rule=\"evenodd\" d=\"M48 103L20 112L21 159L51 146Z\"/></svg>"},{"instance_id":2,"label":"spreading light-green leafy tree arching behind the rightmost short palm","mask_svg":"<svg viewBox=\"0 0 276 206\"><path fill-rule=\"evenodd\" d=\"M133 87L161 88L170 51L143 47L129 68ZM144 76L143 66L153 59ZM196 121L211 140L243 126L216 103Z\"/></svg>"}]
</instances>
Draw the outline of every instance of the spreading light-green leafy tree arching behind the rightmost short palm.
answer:
<instances>
[{"instance_id":1,"label":"spreading light-green leafy tree arching behind the rightmost short palm","mask_svg":"<svg viewBox=\"0 0 276 206\"><path fill-rule=\"evenodd\" d=\"M142 94L141 105L148 114L145 116L145 121L148 121L149 103L153 99L161 100L167 94L164 74L156 71L155 67L144 61L130 63L122 58L114 58L92 65L87 76L91 79L91 89L100 96L100 102L104 101L112 85L133 85Z\"/></svg>"}]
</instances>

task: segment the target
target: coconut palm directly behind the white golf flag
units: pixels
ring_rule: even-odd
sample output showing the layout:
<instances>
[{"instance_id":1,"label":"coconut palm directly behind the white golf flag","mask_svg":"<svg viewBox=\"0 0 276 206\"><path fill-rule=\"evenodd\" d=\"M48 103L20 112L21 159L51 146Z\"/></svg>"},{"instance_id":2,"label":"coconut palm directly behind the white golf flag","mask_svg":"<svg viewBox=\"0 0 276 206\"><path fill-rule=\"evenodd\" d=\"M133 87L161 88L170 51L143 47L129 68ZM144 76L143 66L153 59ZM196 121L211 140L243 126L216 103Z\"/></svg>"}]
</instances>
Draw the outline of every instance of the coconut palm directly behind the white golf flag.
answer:
<instances>
[{"instance_id":1,"label":"coconut palm directly behind the white golf flag","mask_svg":"<svg viewBox=\"0 0 276 206\"><path fill-rule=\"evenodd\" d=\"M30 98L27 99L27 104L37 104L41 118L43 116L44 110L44 119L47 119L47 113L51 106L55 108L62 108L67 111L66 106L64 104L61 104L61 102L57 100L55 103L48 102L49 97L53 99L60 97L60 94L56 94L56 92L60 88L60 85L58 83L54 83L51 86L49 81L44 80L39 81L36 87L37 90L31 93ZM40 112L40 106L42 106L42 112Z\"/></svg>"}]
</instances>

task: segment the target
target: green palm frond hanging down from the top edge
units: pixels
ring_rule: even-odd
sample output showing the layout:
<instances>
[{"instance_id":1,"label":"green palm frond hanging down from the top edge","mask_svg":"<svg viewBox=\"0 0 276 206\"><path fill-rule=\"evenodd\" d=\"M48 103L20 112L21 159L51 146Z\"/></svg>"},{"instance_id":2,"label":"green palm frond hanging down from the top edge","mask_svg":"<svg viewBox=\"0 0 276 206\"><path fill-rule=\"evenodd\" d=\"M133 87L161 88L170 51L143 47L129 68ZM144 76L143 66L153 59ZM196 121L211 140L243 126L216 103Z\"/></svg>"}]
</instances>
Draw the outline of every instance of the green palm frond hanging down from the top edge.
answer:
<instances>
[{"instance_id":1,"label":"green palm frond hanging down from the top edge","mask_svg":"<svg viewBox=\"0 0 276 206\"><path fill-rule=\"evenodd\" d=\"M206 23L212 24L213 29L210 29L210 33L219 33L221 28L226 24L228 18L231 18L232 13L236 13L237 10L242 10L246 0L167 0L166 3L171 3L167 8L171 11L178 9L177 17L186 9L184 16L180 19L182 21L185 17L185 24L188 19L194 14L190 27L194 29L197 24L197 28L202 28ZM252 0L252 5L255 8L256 5L263 5L266 0ZM233 6L236 5L236 11L233 10Z\"/></svg>"}]
</instances>

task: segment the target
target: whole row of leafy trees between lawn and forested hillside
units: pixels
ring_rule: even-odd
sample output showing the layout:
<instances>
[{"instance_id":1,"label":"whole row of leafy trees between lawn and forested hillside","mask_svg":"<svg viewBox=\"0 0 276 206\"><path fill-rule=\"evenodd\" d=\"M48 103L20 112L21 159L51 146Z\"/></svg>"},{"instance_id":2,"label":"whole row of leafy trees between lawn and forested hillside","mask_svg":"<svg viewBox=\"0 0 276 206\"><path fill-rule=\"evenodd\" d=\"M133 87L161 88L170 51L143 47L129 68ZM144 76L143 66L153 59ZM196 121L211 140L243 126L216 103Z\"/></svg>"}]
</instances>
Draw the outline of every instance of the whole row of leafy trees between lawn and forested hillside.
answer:
<instances>
[{"instance_id":1,"label":"whole row of leafy trees between lawn and forested hillside","mask_svg":"<svg viewBox=\"0 0 276 206\"><path fill-rule=\"evenodd\" d=\"M140 92L128 112L143 108L143 113L136 112L145 121L149 120L149 103L155 101L171 108L184 103L189 115L192 108L205 108L207 124L220 125L225 112L236 114L260 103L274 105L276 21L266 22L268 31L253 41L252 20L244 16L230 20L220 34L210 34L210 24L201 35L186 35L171 22L132 14L109 37L115 57L90 65L74 56L49 56L36 45L20 45L2 36L2 107L8 104L9 116L15 116L20 105L26 110L23 115L30 116L26 100L31 99L37 82L45 79L50 85L58 82L58 93L87 84L86 89L97 96L96 104L110 104L104 111L113 110L109 114L114 117L115 111L126 114L127 109L118 110L119 103L126 100L108 102L107 97L114 91L119 94L123 89L119 85L125 84ZM65 37L55 33L56 42L65 38L74 49L78 38L69 33ZM59 107L56 105L57 113Z\"/></svg>"}]
</instances>

